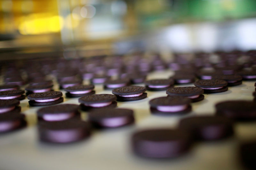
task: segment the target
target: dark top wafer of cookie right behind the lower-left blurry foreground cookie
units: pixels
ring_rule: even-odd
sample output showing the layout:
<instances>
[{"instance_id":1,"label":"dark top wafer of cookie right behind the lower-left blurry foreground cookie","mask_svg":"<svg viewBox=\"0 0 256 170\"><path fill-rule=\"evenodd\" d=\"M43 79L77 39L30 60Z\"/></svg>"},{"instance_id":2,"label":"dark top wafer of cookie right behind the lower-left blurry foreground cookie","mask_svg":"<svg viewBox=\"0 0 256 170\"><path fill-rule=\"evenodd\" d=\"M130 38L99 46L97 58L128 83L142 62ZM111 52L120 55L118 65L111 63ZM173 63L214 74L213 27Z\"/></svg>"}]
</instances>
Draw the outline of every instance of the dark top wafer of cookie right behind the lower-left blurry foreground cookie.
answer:
<instances>
[{"instance_id":1,"label":"dark top wafer of cookie right behind the lower-left blurry foreground cookie","mask_svg":"<svg viewBox=\"0 0 256 170\"><path fill-rule=\"evenodd\" d=\"M37 115L41 116L44 114L59 114L59 113L75 113L79 109L79 105L75 104L61 104L43 107L37 110Z\"/></svg>"}]
</instances>

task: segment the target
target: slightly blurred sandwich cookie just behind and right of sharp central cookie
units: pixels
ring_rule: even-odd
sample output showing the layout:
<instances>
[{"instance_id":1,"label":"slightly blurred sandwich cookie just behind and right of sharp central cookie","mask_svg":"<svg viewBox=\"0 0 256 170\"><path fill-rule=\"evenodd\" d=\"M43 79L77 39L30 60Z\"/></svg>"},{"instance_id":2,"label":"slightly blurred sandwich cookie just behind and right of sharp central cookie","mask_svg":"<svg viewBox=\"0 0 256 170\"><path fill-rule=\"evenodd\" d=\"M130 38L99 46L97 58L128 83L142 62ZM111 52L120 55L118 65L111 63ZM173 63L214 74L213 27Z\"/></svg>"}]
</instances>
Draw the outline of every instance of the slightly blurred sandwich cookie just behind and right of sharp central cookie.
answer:
<instances>
[{"instance_id":1,"label":"slightly blurred sandwich cookie just behind and right of sharp central cookie","mask_svg":"<svg viewBox=\"0 0 256 170\"><path fill-rule=\"evenodd\" d=\"M149 91L167 90L174 85L173 79L154 79L145 82L146 89Z\"/></svg>"}]
</instances>

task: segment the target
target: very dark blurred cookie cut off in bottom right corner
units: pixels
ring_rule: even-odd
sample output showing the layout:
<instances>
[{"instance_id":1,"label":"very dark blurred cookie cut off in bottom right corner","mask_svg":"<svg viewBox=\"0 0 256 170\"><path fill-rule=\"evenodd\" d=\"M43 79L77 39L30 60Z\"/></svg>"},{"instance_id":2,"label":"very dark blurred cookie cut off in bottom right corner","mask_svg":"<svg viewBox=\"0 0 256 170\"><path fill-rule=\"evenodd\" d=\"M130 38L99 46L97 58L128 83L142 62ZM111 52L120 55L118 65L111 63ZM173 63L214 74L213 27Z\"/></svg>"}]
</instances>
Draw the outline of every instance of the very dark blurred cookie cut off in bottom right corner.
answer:
<instances>
[{"instance_id":1,"label":"very dark blurred cookie cut off in bottom right corner","mask_svg":"<svg viewBox=\"0 0 256 170\"><path fill-rule=\"evenodd\" d=\"M242 164L248 169L256 169L256 140L242 142L238 150Z\"/></svg>"}]
</instances>

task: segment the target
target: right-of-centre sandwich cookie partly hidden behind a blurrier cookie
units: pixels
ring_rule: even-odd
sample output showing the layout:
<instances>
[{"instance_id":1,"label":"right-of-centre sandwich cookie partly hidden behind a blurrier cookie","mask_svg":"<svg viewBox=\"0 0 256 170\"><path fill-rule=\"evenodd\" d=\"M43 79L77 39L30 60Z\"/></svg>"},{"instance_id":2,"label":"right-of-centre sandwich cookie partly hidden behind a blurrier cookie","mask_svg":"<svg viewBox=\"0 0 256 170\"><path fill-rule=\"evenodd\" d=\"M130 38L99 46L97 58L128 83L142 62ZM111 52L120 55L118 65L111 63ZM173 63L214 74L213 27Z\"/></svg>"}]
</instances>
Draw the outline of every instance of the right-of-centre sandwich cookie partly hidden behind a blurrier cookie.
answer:
<instances>
[{"instance_id":1,"label":"right-of-centre sandwich cookie partly hidden behind a blurrier cookie","mask_svg":"<svg viewBox=\"0 0 256 170\"><path fill-rule=\"evenodd\" d=\"M204 90L199 87L173 87L166 90L166 94L169 96L184 96L191 100L191 102L197 102L204 100Z\"/></svg>"}]
</instances>

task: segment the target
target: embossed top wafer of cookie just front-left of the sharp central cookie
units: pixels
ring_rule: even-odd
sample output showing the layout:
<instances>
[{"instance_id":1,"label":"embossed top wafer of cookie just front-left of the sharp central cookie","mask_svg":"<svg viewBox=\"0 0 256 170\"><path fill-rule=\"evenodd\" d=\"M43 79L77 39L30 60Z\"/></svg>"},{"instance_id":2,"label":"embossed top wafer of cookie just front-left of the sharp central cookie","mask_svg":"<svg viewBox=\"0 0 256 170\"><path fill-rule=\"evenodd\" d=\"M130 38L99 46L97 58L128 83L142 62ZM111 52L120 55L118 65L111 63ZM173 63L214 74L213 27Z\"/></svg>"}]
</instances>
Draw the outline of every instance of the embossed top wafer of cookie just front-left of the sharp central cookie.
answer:
<instances>
[{"instance_id":1,"label":"embossed top wafer of cookie just front-left of the sharp central cookie","mask_svg":"<svg viewBox=\"0 0 256 170\"><path fill-rule=\"evenodd\" d=\"M89 96L80 97L79 103L92 104L92 103L105 103L116 100L116 96L113 94L92 94Z\"/></svg>"}]
</instances>

